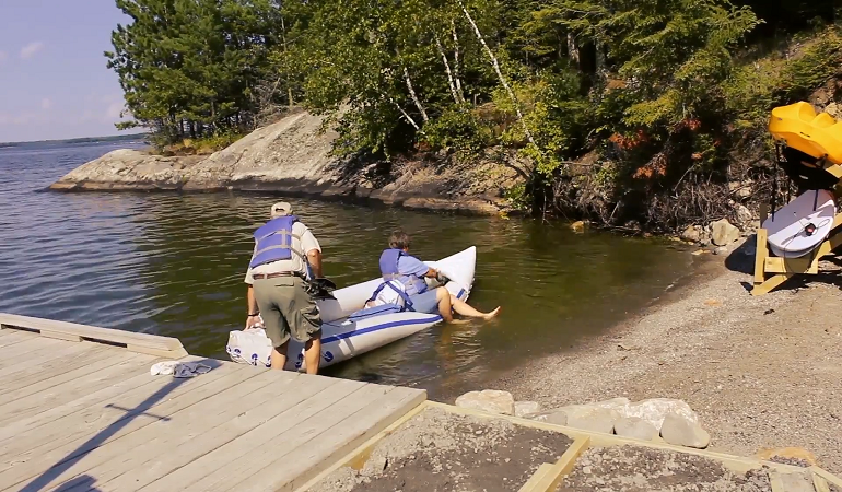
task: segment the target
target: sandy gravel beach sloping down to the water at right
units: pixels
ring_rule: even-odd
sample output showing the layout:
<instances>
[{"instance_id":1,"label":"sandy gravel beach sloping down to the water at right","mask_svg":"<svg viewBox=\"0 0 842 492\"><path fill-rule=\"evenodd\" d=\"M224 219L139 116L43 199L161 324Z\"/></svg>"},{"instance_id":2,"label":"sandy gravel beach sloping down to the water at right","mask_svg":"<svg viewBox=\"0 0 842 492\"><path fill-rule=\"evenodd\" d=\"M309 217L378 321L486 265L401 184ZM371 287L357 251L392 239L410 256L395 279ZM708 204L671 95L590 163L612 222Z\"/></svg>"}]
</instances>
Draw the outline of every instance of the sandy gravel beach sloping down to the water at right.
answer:
<instances>
[{"instance_id":1,"label":"sandy gravel beach sloping down to the water at right","mask_svg":"<svg viewBox=\"0 0 842 492\"><path fill-rule=\"evenodd\" d=\"M751 249L712 256L638 319L489 387L545 408L679 398L699 413L711 449L798 446L842 475L842 273L822 262L827 273L753 297Z\"/></svg>"}]
</instances>

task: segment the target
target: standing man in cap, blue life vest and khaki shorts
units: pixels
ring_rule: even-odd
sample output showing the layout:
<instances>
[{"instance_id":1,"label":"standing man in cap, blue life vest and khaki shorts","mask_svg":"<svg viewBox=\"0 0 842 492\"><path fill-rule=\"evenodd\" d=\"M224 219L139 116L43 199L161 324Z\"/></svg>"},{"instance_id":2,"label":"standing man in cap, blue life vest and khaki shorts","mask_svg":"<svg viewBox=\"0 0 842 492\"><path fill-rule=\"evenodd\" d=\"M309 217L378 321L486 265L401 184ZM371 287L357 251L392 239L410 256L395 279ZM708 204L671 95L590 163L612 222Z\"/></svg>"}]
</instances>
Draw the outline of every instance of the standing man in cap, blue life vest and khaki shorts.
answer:
<instances>
[{"instance_id":1,"label":"standing man in cap, blue life vest and khaki shorts","mask_svg":"<svg viewBox=\"0 0 842 492\"><path fill-rule=\"evenodd\" d=\"M255 250L246 272L246 329L264 318L272 341L272 368L286 364L290 337L304 343L307 374L318 372L321 358L321 317L306 290L307 265L312 279L321 277L321 247L285 201L272 206L271 219L255 232Z\"/></svg>"}]
</instances>

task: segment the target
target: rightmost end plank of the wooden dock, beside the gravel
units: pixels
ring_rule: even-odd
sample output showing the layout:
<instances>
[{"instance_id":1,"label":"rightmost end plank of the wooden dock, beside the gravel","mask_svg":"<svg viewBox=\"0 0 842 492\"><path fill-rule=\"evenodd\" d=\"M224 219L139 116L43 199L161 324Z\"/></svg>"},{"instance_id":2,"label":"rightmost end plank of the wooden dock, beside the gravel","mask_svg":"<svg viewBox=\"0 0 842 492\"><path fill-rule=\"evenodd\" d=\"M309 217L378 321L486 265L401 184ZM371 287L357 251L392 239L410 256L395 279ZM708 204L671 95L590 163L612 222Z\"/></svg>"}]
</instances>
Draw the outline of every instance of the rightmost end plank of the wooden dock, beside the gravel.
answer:
<instances>
[{"instance_id":1,"label":"rightmost end plank of the wooden dock, beside the gravel","mask_svg":"<svg viewBox=\"0 0 842 492\"><path fill-rule=\"evenodd\" d=\"M288 456L278 457L243 484L246 490L293 491L424 400L425 390L396 387L359 411L343 415L299 449L289 446Z\"/></svg>"}]
</instances>

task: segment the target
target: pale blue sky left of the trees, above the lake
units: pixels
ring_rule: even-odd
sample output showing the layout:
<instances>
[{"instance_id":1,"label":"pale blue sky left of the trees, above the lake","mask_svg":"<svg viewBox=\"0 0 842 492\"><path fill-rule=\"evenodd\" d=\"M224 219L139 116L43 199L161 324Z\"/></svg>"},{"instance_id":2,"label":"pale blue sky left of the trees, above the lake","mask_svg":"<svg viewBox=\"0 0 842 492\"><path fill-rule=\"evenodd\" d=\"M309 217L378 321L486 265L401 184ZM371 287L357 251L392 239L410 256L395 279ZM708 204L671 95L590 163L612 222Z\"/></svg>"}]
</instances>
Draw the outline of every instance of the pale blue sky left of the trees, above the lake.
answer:
<instances>
[{"instance_id":1,"label":"pale blue sky left of the trees, above the lake","mask_svg":"<svg viewBox=\"0 0 842 492\"><path fill-rule=\"evenodd\" d=\"M130 21L114 0L0 0L0 142L121 133L103 51Z\"/></svg>"}]
</instances>

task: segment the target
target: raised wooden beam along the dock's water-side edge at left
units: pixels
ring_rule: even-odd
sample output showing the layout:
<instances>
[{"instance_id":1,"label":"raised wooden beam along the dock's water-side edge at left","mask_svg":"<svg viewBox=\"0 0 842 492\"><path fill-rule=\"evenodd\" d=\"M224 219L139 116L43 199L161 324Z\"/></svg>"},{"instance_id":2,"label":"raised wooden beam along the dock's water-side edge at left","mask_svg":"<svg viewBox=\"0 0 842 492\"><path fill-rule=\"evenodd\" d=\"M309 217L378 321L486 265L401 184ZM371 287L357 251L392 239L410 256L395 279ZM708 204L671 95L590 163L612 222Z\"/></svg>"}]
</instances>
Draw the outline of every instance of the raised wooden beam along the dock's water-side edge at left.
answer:
<instances>
[{"instance_id":1,"label":"raised wooden beam along the dock's water-side edge at left","mask_svg":"<svg viewBox=\"0 0 842 492\"><path fill-rule=\"evenodd\" d=\"M75 323L57 321L54 319L35 318L0 313L0 324L13 327L32 328L42 332L66 333L79 336L85 339L103 340L114 343L133 344L157 350L184 350L182 342L176 338L161 337L157 335L136 333L132 331L100 328L79 325Z\"/></svg>"}]
</instances>

